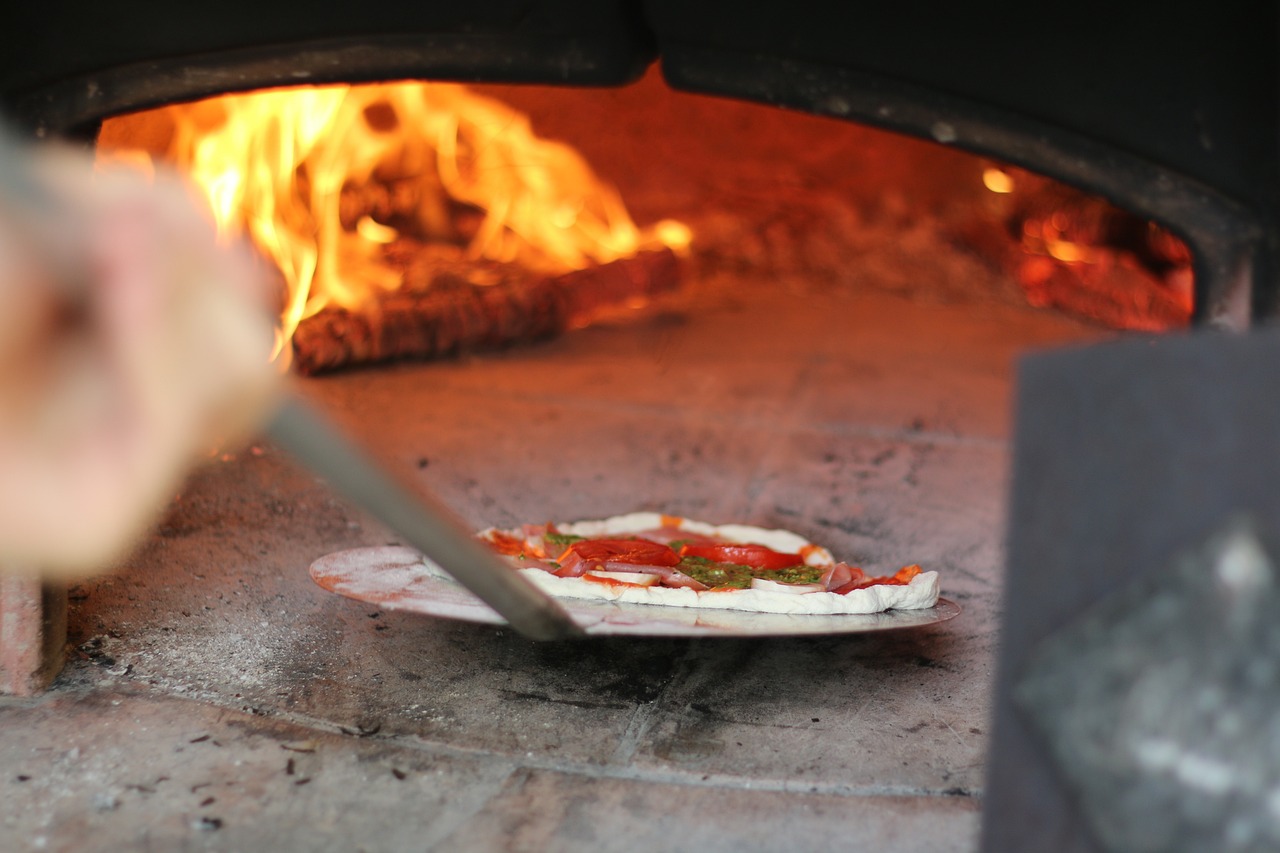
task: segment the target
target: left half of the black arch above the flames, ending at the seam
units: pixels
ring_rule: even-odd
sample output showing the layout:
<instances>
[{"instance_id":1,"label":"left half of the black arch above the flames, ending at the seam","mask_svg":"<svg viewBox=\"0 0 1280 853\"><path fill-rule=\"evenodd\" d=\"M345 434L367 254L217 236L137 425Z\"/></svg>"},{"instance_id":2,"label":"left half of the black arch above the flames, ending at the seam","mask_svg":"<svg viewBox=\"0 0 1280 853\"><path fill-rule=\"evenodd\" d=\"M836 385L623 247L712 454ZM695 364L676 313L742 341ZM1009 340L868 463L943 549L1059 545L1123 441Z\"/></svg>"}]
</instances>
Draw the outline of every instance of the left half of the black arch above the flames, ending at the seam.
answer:
<instances>
[{"instance_id":1,"label":"left half of the black arch above the flames, ending at the seam","mask_svg":"<svg viewBox=\"0 0 1280 853\"><path fill-rule=\"evenodd\" d=\"M10 3L0 105L40 133L269 86L403 78L620 85L653 60L630 4L227 0Z\"/></svg>"}]
</instances>

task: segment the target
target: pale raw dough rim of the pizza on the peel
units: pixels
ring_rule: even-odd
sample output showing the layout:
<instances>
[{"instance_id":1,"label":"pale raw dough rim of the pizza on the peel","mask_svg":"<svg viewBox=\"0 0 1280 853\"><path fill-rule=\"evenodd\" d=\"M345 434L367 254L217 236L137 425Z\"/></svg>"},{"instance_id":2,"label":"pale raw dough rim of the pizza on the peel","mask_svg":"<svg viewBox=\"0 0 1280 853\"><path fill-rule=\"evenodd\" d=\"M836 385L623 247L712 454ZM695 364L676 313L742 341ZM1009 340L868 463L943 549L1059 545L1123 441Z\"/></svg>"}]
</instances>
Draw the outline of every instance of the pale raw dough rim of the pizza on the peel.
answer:
<instances>
[{"instance_id":1,"label":"pale raw dough rim of the pizza on the peel","mask_svg":"<svg viewBox=\"0 0 1280 853\"><path fill-rule=\"evenodd\" d=\"M829 566L835 562L831 552L815 546L790 530L756 528L746 524L707 524L694 519L673 519L658 512L630 512L609 519L556 524L561 533L588 538L607 538L676 526L690 533L716 535L731 542L763 544L783 553L803 553L810 566ZM480 537L498 532L488 528ZM522 530L500 530L522 537ZM434 567L434 566L433 566ZM829 592L804 594L767 592L763 589L718 589L698 592L671 587L627 587L603 584L581 578L558 578L541 569L518 569L539 589L558 598L617 601L634 605L660 605L666 607L694 607L700 610L742 610L762 613L878 613L886 610L922 610L938 601L938 573L924 571L909 584L877 584L837 596ZM447 575L445 575L447 576Z\"/></svg>"}]
</instances>

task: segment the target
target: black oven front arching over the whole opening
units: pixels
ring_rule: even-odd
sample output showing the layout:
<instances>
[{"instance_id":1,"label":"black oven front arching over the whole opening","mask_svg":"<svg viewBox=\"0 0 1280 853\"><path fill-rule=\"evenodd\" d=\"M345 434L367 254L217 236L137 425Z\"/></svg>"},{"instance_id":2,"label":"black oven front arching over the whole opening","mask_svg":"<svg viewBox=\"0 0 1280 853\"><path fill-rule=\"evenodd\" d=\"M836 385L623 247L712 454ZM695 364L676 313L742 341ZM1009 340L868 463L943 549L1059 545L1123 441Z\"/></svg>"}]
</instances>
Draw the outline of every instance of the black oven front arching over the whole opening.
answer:
<instances>
[{"instance_id":1,"label":"black oven front arching over the whole opening","mask_svg":"<svg viewBox=\"0 0 1280 853\"><path fill-rule=\"evenodd\" d=\"M110 115L223 92L452 79L671 85L877 124L1102 195L1192 246L1198 311L1280 314L1277 12L818 0L10 3L0 110L91 138ZM1243 300L1243 302L1242 302ZM1239 311L1235 311L1236 314Z\"/></svg>"}]
</instances>

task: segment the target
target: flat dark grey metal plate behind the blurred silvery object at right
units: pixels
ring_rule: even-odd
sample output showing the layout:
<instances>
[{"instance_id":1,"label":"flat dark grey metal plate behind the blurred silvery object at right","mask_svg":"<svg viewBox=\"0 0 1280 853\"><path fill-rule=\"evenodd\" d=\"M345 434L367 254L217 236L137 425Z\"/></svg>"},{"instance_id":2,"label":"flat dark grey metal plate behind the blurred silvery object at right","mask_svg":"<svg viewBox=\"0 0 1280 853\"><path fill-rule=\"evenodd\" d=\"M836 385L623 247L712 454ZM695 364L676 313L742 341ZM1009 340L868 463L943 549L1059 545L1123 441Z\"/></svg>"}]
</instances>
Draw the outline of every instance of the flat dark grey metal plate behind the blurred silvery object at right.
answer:
<instances>
[{"instance_id":1,"label":"flat dark grey metal plate behind the blurred silvery object at right","mask_svg":"<svg viewBox=\"0 0 1280 853\"><path fill-rule=\"evenodd\" d=\"M1158 583L1240 515L1280 552L1276 365L1276 329L1024 362L983 849L1098 849L1011 699L1032 649L1108 596Z\"/></svg>"}]
</instances>

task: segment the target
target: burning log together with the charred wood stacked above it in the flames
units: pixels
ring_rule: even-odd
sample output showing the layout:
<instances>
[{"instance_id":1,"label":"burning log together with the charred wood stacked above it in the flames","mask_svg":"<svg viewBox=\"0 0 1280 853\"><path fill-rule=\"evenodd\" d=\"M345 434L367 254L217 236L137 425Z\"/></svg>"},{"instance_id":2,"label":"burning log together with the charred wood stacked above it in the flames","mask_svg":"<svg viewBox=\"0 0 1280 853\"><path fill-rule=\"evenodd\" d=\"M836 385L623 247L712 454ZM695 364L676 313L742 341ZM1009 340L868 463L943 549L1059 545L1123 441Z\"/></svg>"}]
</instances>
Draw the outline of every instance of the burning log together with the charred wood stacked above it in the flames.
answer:
<instances>
[{"instance_id":1,"label":"burning log together with the charred wood stacked above it in the flames","mask_svg":"<svg viewBox=\"0 0 1280 853\"><path fill-rule=\"evenodd\" d=\"M429 169L344 186L343 229L355 231L362 218L402 234L383 250L402 284L302 320L293 333L293 364L302 374L543 341L680 283L680 264L667 248L562 274L468 257L465 247L484 211L449 197Z\"/></svg>"}]
</instances>

